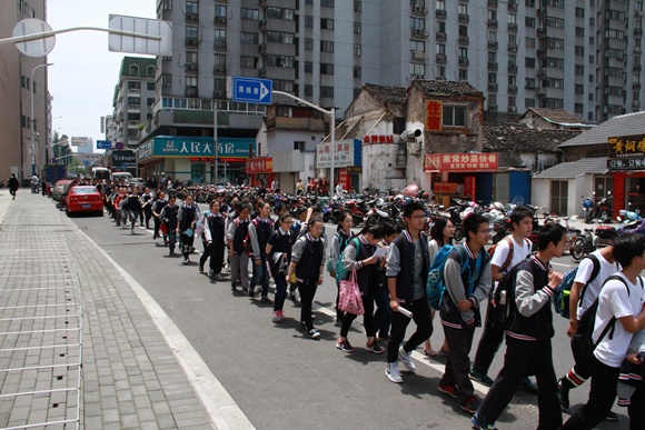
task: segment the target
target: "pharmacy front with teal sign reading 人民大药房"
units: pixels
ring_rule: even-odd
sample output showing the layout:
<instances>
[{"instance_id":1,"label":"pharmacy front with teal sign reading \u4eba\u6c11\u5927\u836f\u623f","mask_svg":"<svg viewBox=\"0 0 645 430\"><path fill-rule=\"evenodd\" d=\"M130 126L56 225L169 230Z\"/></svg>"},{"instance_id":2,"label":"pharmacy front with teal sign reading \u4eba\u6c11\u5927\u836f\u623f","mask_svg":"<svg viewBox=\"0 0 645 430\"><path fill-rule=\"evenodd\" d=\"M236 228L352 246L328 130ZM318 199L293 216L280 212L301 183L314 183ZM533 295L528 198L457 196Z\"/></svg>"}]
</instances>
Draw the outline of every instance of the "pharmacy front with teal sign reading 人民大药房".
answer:
<instances>
[{"instance_id":1,"label":"pharmacy front with teal sign reading \u4eba\u6c11\u5927\u836f\u623f","mask_svg":"<svg viewBox=\"0 0 645 430\"><path fill-rule=\"evenodd\" d=\"M139 164L150 174L194 183L237 182L255 139L158 136L137 149ZM217 162L217 169L216 169ZM217 177L217 178L216 178Z\"/></svg>"}]
</instances>

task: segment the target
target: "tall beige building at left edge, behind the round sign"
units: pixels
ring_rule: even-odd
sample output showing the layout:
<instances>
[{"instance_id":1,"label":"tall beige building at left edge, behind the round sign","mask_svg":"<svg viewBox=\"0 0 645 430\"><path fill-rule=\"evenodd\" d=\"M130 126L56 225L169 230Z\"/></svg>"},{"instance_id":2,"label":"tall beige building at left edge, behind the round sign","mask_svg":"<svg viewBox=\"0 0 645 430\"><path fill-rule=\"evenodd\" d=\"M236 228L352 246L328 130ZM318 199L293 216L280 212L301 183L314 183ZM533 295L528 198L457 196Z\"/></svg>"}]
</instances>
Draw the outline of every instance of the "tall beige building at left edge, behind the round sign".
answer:
<instances>
[{"instance_id":1,"label":"tall beige building at left edge, behind the round sign","mask_svg":"<svg viewBox=\"0 0 645 430\"><path fill-rule=\"evenodd\" d=\"M46 21L46 1L3 1L0 4L0 39L11 38L13 27L26 18ZM32 162L38 174L47 163L44 153L50 136L49 92L47 67L39 67L47 63L47 57L27 57L12 43L0 46L0 177L6 179L10 173L16 173L18 179L30 179ZM34 160L31 156L32 123Z\"/></svg>"}]
</instances>

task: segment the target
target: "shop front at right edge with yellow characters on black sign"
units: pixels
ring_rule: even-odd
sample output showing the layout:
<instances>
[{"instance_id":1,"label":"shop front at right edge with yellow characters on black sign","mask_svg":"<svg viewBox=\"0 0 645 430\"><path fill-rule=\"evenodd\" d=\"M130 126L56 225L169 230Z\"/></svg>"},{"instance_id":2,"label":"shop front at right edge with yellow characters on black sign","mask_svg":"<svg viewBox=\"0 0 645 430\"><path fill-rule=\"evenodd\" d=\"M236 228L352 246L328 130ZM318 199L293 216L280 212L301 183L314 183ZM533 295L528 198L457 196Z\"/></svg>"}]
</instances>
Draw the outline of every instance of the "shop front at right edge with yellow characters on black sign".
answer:
<instances>
[{"instance_id":1,"label":"shop front at right edge with yellow characters on black sign","mask_svg":"<svg viewBox=\"0 0 645 430\"><path fill-rule=\"evenodd\" d=\"M621 209L645 211L645 134L609 138L607 168L614 187L614 219Z\"/></svg>"}]
</instances>

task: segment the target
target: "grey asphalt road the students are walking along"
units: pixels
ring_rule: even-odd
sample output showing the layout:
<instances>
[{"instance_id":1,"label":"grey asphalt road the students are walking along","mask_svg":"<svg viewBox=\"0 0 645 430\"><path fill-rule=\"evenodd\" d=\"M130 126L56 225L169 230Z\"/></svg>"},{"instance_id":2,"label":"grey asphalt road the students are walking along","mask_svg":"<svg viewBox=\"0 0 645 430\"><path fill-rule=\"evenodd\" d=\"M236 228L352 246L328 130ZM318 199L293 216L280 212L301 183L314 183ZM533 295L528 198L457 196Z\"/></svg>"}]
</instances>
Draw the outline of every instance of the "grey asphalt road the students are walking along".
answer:
<instances>
[{"instance_id":1,"label":"grey asphalt road the students are walking along","mask_svg":"<svg viewBox=\"0 0 645 430\"><path fill-rule=\"evenodd\" d=\"M445 357L426 358L420 347L414 353L416 374L404 372L404 383L391 383L384 376L385 354L364 350L360 318L349 334L356 351L336 349L339 328L334 326L336 286L330 277L325 278L315 300L315 324L321 338L310 340L299 327L297 303L287 300L288 320L275 324L272 304L260 303L257 297L244 297L239 288L231 293L226 270L224 282L199 273L201 243L196 244L198 251L187 267L181 257L167 257L168 249L161 241L152 240L152 230L137 228L132 236L129 229L115 227L108 216L78 217L73 222L163 308L256 428L470 428L469 416L459 409L459 401L437 392ZM329 233L334 229L327 224ZM576 264L570 257L564 257L553 261L553 266L564 272ZM272 287L269 296L272 299ZM573 364L567 321L555 316L554 323L555 370L562 376ZM474 350L480 333L478 329ZM435 349L443 342L437 320L431 341ZM492 377L502 363L500 352L493 363ZM480 397L485 396L484 387L475 387ZM572 404L584 403L587 394L588 384L574 390ZM519 391L497 422L498 428L535 428L536 401L535 396ZM619 421L605 422L598 429L626 428L626 410L615 407L614 411Z\"/></svg>"}]
</instances>

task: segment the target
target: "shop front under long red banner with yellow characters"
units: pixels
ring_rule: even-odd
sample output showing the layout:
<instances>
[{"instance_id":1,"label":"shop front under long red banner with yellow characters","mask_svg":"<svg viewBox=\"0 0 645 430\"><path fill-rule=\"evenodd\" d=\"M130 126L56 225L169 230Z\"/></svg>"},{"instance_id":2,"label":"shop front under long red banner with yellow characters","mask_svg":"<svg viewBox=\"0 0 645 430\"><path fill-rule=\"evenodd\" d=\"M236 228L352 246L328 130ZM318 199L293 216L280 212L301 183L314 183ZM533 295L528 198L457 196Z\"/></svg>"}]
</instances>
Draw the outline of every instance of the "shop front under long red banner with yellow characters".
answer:
<instances>
[{"instance_id":1,"label":"shop front under long red banner with yellow characters","mask_svg":"<svg viewBox=\"0 0 645 430\"><path fill-rule=\"evenodd\" d=\"M424 172L430 176L435 203L450 206L450 199L493 200L497 153L426 154Z\"/></svg>"}]
</instances>

